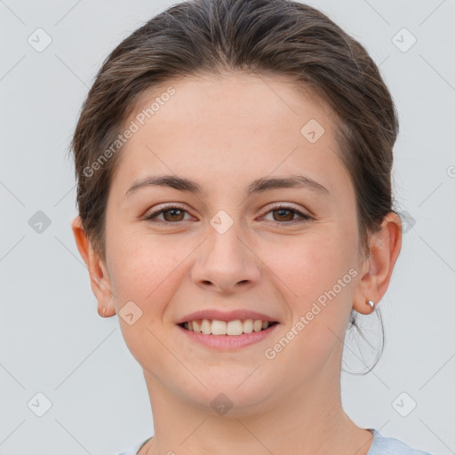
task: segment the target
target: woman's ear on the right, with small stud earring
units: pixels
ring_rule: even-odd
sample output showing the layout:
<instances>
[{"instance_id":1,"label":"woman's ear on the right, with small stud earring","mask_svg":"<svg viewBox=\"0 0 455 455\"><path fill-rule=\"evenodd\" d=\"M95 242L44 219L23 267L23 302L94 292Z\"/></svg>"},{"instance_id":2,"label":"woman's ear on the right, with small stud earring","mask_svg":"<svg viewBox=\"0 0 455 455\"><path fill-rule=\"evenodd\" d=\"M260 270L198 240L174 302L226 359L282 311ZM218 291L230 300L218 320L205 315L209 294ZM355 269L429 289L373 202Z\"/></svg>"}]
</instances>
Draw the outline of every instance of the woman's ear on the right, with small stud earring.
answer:
<instances>
[{"instance_id":1,"label":"woman's ear on the right, with small stud earring","mask_svg":"<svg viewBox=\"0 0 455 455\"><path fill-rule=\"evenodd\" d=\"M370 237L370 254L362 262L360 281L355 290L354 309L368 314L387 291L402 246L402 221L395 212L387 213L378 233Z\"/></svg>"}]
</instances>

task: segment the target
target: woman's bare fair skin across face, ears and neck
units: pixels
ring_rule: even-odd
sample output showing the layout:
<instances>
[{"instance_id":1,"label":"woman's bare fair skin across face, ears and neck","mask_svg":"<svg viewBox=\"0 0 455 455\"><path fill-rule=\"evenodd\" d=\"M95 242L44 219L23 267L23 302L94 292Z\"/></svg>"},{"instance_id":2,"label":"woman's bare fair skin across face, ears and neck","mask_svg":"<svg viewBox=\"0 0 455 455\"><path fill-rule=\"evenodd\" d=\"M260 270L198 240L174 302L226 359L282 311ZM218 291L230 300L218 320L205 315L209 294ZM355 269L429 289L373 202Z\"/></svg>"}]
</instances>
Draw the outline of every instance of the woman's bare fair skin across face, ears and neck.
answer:
<instances>
[{"instance_id":1,"label":"woman's bare fair skin across face, ears and neck","mask_svg":"<svg viewBox=\"0 0 455 455\"><path fill-rule=\"evenodd\" d=\"M169 85L148 92L142 104L149 106ZM367 300L378 304L387 291L401 249L399 217L387 214L364 259L333 112L299 95L290 81L230 74L172 86L175 95L121 151L108 196L106 261L93 251L79 217L72 224L100 315L103 307L105 316L116 315L130 300L142 311L132 325L118 318L143 368L154 416L155 436L140 455L366 454L371 432L341 406L342 340L352 308L369 314ZM315 143L300 133L312 118L325 130ZM196 180L206 194L148 187L124 196L134 180L155 173ZM331 197L307 188L244 196L252 180L291 174L317 180ZM178 221L169 212L158 215L166 225L145 220L164 203L186 212L177 212ZM270 212L274 203L314 219L292 223L299 215ZM220 210L234 220L222 235L210 224ZM265 349L349 269L355 278L267 359ZM174 323L212 307L247 307L280 325L250 347L213 351L188 341ZM224 415L211 407L221 392L233 404Z\"/></svg>"}]
</instances>

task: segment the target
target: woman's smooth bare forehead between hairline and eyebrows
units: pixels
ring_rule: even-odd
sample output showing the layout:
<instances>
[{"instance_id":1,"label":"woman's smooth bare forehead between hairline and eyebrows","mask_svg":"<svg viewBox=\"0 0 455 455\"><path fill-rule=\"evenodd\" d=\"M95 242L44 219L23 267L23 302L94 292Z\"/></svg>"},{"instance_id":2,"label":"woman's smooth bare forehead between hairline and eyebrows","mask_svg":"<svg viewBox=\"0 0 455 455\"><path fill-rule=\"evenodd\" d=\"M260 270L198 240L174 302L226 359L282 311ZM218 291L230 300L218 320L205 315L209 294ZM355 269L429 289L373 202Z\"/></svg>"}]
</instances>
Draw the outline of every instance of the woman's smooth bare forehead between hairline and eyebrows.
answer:
<instances>
[{"instance_id":1,"label":"woman's smooth bare forehead between hairline and eyebrows","mask_svg":"<svg viewBox=\"0 0 455 455\"><path fill-rule=\"evenodd\" d=\"M138 131L122 148L117 180L125 187L156 171L216 185L223 175L250 182L301 171L333 187L340 173L347 180L334 118L288 77L170 80L143 93L125 123Z\"/></svg>"}]
</instances>

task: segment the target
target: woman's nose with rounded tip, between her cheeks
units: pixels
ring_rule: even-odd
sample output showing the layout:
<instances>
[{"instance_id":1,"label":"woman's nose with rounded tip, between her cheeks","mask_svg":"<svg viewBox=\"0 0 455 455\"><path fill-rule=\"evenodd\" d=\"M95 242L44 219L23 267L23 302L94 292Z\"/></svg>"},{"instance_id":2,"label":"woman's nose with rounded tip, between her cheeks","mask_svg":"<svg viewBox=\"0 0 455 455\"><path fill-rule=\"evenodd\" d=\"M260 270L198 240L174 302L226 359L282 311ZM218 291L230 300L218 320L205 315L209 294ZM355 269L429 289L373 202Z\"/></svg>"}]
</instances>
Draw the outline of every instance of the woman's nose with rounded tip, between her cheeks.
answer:
<instances>
[{"instance_id":1,"label":"woman's nose with rounded tip, between her cheeks","mask_svg":"<svg viewBox=\"0 0 455 455\"><path fill-rule=\"evenodd\" d=\"M197 249L193 282L223 293L245 291L259 283L262 261L247 238L235 224L222 234L209 227L208 238Z\"/></svg>"}]
</instances>

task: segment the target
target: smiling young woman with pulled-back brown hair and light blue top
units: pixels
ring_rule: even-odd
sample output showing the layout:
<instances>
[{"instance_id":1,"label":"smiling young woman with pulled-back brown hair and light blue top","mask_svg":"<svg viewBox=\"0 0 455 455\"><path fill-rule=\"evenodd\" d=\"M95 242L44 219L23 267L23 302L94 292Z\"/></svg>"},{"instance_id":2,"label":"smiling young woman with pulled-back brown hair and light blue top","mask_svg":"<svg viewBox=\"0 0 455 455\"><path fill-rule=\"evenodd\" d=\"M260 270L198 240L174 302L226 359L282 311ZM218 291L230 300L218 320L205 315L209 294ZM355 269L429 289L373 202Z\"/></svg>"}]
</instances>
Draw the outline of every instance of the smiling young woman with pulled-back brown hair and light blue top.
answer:
<instances>
[{"instance_id":1,"label":"smiling young woman with pulled-back brown hair and light blue top","mask_svg":"<svg viewBox=\"0 0 455 455\"><path fill-rule=\"evenodd\" d=\"M395 107L287 0L190 0L108 56L72 142L78 250L155 434L124 454L423 454L343 411L343 340L401 248Z\"/></svg>"}]
</instances>

